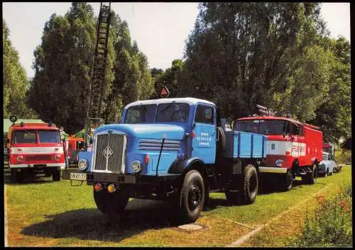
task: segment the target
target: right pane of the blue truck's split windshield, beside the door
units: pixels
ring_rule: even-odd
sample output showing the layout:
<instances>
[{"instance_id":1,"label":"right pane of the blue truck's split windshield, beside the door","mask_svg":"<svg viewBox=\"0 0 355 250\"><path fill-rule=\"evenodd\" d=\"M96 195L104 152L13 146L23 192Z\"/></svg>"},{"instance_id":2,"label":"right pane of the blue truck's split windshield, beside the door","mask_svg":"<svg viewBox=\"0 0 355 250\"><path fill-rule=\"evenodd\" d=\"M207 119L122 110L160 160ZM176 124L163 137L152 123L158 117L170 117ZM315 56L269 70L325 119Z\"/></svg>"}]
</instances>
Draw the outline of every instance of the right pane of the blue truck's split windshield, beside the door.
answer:
<instances>
[{"instance_id":1,"label":"right pane of the blue truck's split windshield, beside the door","mask_svg":"<svg viewBox=\"0 0 355 250\"><path fill-rule=\"evenodd\" d=\"M190 106L187 103L162 103L158 106L158 123L187 122Z\"/></svg>"}]
</instances>

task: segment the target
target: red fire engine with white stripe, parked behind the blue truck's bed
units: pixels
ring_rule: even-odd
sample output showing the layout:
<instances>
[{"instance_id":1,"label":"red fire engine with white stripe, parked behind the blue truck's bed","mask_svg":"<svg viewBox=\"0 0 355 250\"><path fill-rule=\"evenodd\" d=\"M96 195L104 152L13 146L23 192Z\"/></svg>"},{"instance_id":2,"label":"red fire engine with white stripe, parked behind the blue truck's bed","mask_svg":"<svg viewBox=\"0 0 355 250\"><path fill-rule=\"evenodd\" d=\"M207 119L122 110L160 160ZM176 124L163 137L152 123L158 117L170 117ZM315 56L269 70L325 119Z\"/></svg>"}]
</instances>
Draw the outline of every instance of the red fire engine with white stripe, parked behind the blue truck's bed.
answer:
<instances>
[{"instance_id":1,"label":"red fire engine with white stripe, parked behind the blue truck's bed","mask_svg":"<svg viewBox=\"0 0 355 250\"><path fill-rule=\"evenodd\" d=\"M289 115L279 117L268 108L257 107L261 115L239 118L234 130L267 135L266 160L258 169L261 176L276 177L285 191L292 188L295 176L301 176L304 183L314 184L317 164L322 161L323 132Z\"/></svg>"}]
</instances>

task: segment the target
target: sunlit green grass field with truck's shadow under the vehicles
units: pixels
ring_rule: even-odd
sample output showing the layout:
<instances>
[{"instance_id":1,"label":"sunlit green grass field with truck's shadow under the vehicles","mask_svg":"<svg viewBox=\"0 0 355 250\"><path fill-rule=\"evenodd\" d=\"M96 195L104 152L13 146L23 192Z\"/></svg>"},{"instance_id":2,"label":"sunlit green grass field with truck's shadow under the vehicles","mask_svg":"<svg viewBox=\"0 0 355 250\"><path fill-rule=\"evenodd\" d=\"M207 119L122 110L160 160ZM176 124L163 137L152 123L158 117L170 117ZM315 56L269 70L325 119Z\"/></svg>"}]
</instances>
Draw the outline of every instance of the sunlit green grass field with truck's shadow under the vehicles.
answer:
<instances>
[{"instance_id":1,"label":"sunlit green grass field with truck's shadow under the vehicles","mask_svg":"<svg viewBox=\"0 0 355 250\"><path fill-rule=\"evenodd\" d=\"M6 183L6 246L225 246L251 231L235 222L263 225L322 188L327 187L324 194L330 195L345 183L351 183L349 166L344 166L340 174L318 178L312 186L301 185L298 180L289 192L258 195L251 205L227 206L224 193L212 193L211 206L196 222L208 228L190 233L170 228L174 215L169 204L162 201L132 199L124 214L111 221L97 210L92 186L86 183L72 187L70 181L53 182L50 178ZM310 200L310 207L315 201ZM290 212L289 219L296 217L298 223L304 212L305 205ZM278 228L293 230L285 227L290 220L281 218L275 223ZM299 227L297 223L291 224ZM280 234L280 229L267 230L244 245L287 246L292 231Z\"/></svg>"}]
</instances>

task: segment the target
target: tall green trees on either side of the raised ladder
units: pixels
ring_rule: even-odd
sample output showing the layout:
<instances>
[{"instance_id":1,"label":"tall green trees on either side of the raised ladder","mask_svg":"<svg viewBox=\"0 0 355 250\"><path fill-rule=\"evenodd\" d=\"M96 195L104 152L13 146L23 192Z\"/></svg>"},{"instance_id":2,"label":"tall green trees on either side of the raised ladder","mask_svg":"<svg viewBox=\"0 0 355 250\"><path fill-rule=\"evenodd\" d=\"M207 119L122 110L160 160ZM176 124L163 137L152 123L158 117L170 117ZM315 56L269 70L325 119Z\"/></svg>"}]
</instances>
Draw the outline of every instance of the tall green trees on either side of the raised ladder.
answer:
<instances>
[{"instance_id":1,"label":"tall green trees on either side of the raised ladder","mask_svg":"<svg viewBox=\"0 0 355 250\"><path fill-rule=\"evenodd\" d=\"M43 120L70 134L84 127L96 45L97 18L92 6L72 3L65 16L53 14L36 48L30 104ZM102 118L117 122L124 105L153 93L148 59L133 42L126 21L111 11ZM58 94L60 93L60 94Z\"/></svg>"}]
</instances>

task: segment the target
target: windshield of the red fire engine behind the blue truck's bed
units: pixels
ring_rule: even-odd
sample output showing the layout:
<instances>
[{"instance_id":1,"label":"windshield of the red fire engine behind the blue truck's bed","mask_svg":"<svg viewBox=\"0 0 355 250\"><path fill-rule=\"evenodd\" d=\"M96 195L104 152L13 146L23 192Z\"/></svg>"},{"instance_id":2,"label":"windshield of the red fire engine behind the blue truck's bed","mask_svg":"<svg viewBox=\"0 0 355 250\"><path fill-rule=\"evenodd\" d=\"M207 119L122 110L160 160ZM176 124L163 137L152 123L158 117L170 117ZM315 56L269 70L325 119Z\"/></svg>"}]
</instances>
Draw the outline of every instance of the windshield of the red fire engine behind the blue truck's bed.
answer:
<instances>
[{"instance_id":1,"label":"windshield of the red fire engine behind the blue truck's bed","mask_svg":"<svg viewBox=\"0 0 355 250\"><path fill-rule=\"evenodd\" d=\"M284 120L238 120L235 130L262 135L283 135Z\"/></svg>"}]
</instances>

